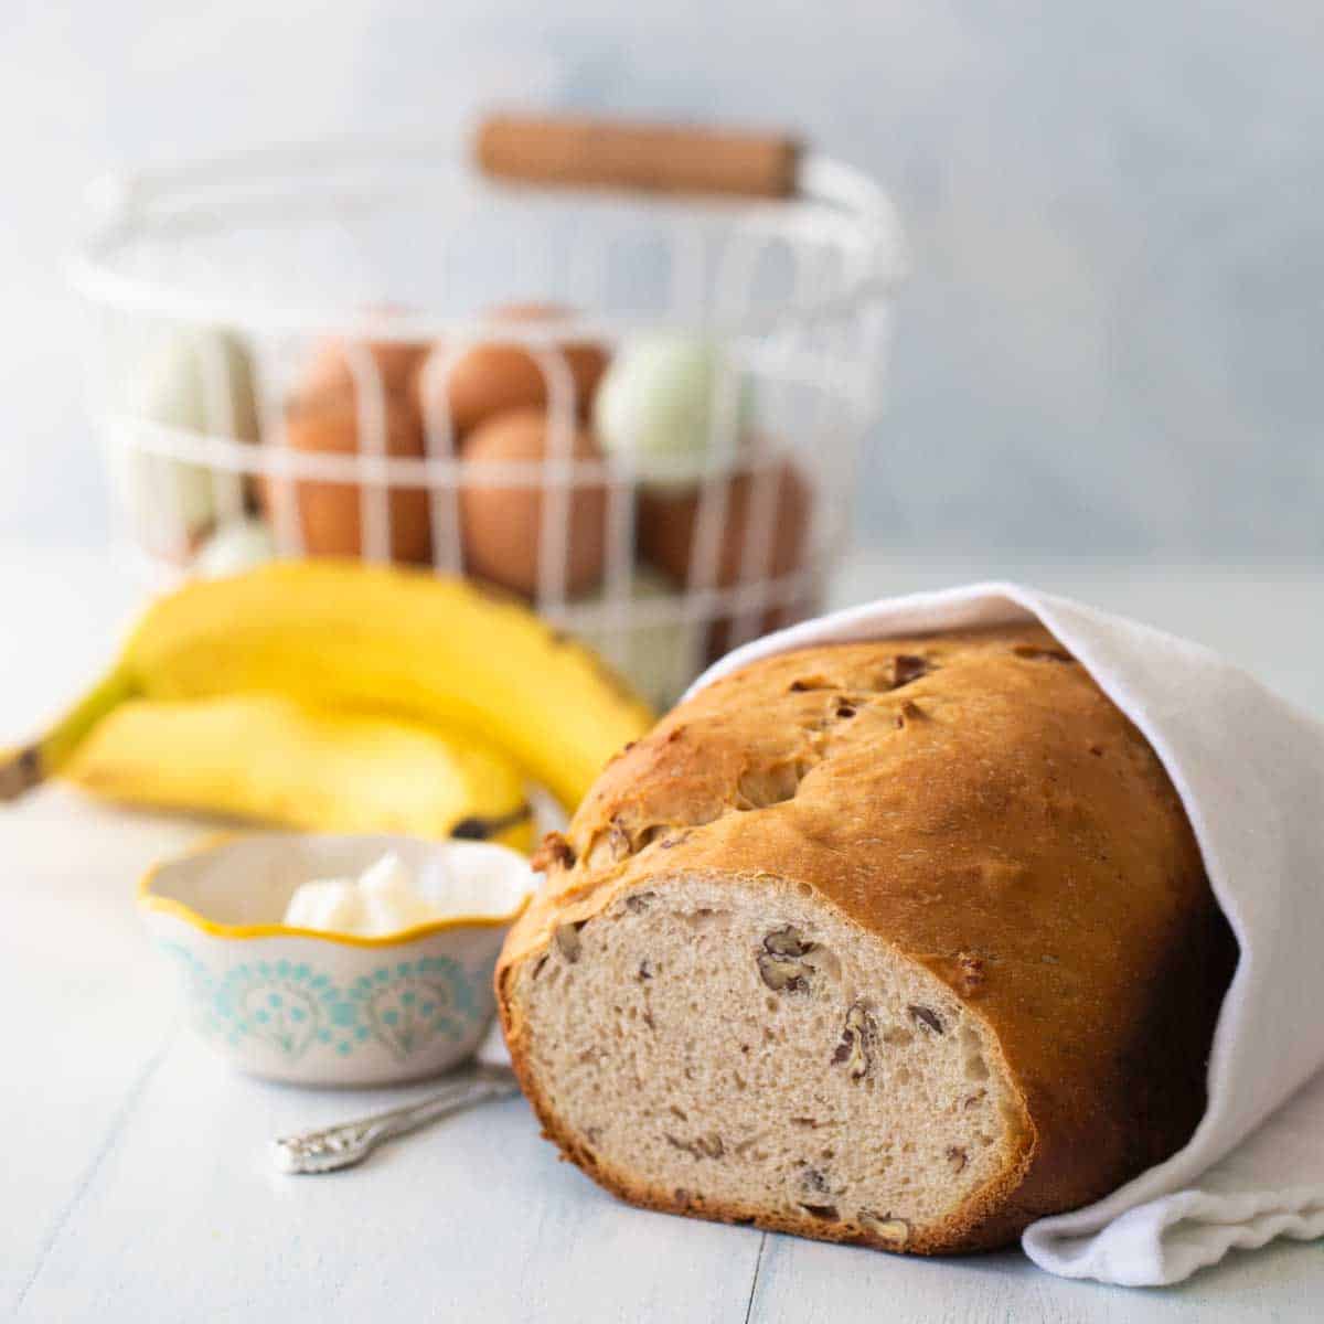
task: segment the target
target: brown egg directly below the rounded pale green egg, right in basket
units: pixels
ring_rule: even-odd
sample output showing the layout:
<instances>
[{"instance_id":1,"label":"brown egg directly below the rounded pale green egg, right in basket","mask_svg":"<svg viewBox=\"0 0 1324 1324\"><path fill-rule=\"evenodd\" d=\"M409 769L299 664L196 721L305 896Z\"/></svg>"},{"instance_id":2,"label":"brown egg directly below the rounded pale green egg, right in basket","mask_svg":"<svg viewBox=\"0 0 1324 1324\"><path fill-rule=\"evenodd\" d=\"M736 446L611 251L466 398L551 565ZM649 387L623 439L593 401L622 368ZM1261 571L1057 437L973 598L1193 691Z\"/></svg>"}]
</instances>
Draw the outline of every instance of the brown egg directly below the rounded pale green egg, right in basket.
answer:
<instances>
[{"instance_id":1,"label":"brown egg directly below the rounded pale green egg, right in basket","mask_svg":"<svg viewBox=\"0 0 1324 1324\"><path fill-rule=\"evenodd\" d=\"M776 496L772 515L772 548L767 568L757 568L748 579L741 573L751 503L757 491L755 475L748 470L735 474L727 485L727 504L718 540L718 588L732 588L749 579L780 579L800 569L808 552L812 491L800 470L789 461L777 466ZM666 571L677 583L691 584L694 535L698 527L700 489L682 493L645 491L639 496L639 551L645 559ZM796 608L769 608L757 624L757 634L781 629L797 620ZM741 622L743 624L743 622ZM708 626L704 653L711 662L728 651L735 621L719 618Z\"/></svg>"}]
</instances>

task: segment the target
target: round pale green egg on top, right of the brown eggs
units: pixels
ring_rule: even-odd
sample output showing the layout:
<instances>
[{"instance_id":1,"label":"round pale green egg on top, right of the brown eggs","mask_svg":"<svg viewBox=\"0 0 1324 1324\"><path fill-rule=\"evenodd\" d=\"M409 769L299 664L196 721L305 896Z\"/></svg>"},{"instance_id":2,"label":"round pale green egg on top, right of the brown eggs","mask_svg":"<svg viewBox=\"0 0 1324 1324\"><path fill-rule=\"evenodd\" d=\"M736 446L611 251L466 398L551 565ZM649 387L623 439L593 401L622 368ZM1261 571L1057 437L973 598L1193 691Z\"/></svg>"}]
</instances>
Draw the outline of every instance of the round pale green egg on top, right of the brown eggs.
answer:
<instances>
[{"instance_id":1,"label":"round pale green egg on top, right of the brown eggs","mask_svg":"<svg viewBox=\"0 0 1324 1324\"><path fill-rule=\"evenodd\" d=\"M655 335L622 346L593 399L593 428L609 455L636 462L653 489L691 486L730 469L751 392L720 346Z\"/></svg>"}]
</instances>

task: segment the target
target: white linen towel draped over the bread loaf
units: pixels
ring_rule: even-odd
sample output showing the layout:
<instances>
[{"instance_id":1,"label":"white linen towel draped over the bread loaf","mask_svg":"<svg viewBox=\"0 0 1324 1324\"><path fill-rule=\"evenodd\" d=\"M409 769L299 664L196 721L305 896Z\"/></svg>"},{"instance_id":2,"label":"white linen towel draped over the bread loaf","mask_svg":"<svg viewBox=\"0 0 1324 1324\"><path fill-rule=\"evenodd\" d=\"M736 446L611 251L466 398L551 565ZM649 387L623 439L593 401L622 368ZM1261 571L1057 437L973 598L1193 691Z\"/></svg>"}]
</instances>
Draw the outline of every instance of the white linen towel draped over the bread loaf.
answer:
<instances>
[{"instance_id":1,"label":"white linen towel draped over the bread loaf","mask_svg":"<svg viewBox=\"0 0 1324 1324\"><path fill-rule=\"evenodd\" d=\"M1162 760L1241 960L1190 1141L1096 1204L1033 1223L1025 1251L1068 1278L1152 1286L1233 1247L1324 1237L1324 726L1207 649L1017 584L806 621L728 654L690 692L810 643L1034 617Z\"/></svg>"}]
</instances>

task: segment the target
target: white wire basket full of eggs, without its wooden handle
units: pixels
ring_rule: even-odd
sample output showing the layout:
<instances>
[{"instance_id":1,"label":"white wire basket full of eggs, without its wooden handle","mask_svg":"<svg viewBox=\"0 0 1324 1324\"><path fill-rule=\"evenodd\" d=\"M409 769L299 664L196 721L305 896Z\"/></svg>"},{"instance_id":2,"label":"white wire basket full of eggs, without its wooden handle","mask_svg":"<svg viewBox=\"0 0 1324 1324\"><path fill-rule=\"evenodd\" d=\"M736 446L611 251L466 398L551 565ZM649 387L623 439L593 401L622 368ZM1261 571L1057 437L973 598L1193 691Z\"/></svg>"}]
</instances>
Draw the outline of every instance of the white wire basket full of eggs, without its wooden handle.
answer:
<instances>
[{"instance_id":1,"label":"white wire basket full of eggs, without its wooden handle","mask_svg":"<svg viewBox=\"0 0 1324 1324\"><path fill-rule=\"evenodd\" d=\"M794 185L530 187L388 142L103 187L75 283L123 536L167 577L471 575L670 702L814 609L879 405L891 208L816 156Z\"/></svg>"}]
</instances>

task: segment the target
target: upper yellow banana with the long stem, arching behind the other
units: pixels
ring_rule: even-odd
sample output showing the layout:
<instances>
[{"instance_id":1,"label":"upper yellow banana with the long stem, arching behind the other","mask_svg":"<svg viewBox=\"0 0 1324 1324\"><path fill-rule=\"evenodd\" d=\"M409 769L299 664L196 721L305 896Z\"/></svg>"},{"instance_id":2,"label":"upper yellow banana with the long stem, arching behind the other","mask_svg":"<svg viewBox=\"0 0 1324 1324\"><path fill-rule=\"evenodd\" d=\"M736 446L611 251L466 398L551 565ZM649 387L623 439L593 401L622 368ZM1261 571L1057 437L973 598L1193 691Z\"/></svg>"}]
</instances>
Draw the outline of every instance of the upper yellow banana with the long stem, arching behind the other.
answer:
<instances>
[{"instance_id":1,"label":"upper yellow banana with the long stem, arching behind the other","mask_svg":"<svg viewBox=\"0 0 1324 1324\"><path fill-rule=\"evenodd\" d=\"M57 773L130 699L275 694L470 732L573 812L653 714L588 649L462 579L279 561L156 600L111 671L0 760L0 798Z\"/></svg>"}]
</instances>

